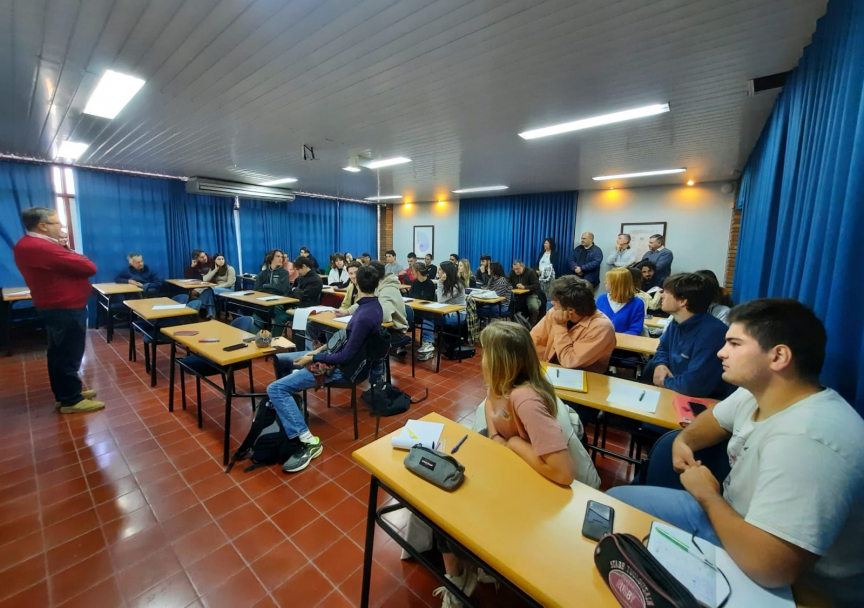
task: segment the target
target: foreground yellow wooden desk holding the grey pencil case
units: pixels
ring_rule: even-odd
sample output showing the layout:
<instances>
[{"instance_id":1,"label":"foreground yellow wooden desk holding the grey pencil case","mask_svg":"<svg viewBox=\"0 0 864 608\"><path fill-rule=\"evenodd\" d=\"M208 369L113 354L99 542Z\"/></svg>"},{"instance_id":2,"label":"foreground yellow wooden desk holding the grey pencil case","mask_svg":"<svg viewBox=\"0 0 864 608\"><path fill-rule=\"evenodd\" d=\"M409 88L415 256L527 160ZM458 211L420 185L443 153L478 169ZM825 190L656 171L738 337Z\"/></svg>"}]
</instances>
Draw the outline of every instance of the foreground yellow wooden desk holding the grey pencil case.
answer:
<instances>
[{"instance_id":1,"label":"foreground yellow wooden desk holding the grey pencil case","mask_svg":"<svg viewBox=\"0 0 864 608\"><path fill-rule=\"evenodd\" d=\"M379 486L527 599L542 606L619 606L594 566L596 543L582 536L586 503L596 500L614 508L614 530L637 538L648 534L655 518L578 482L558 486L512 450L438 414L422 420L444 423L442 436L448 448L468 435L457 453L465 465L465 481L454 492L445 492L408 471L403 464L408 452L390 446L391 437L402 429L353 453L354 460L372 475L361 606L369 604ZM443 574L436 572L436 576L443 579ZM821 603L814 592L801 591L795 590L799 606Z\"/></svg>"}]
</instances>

